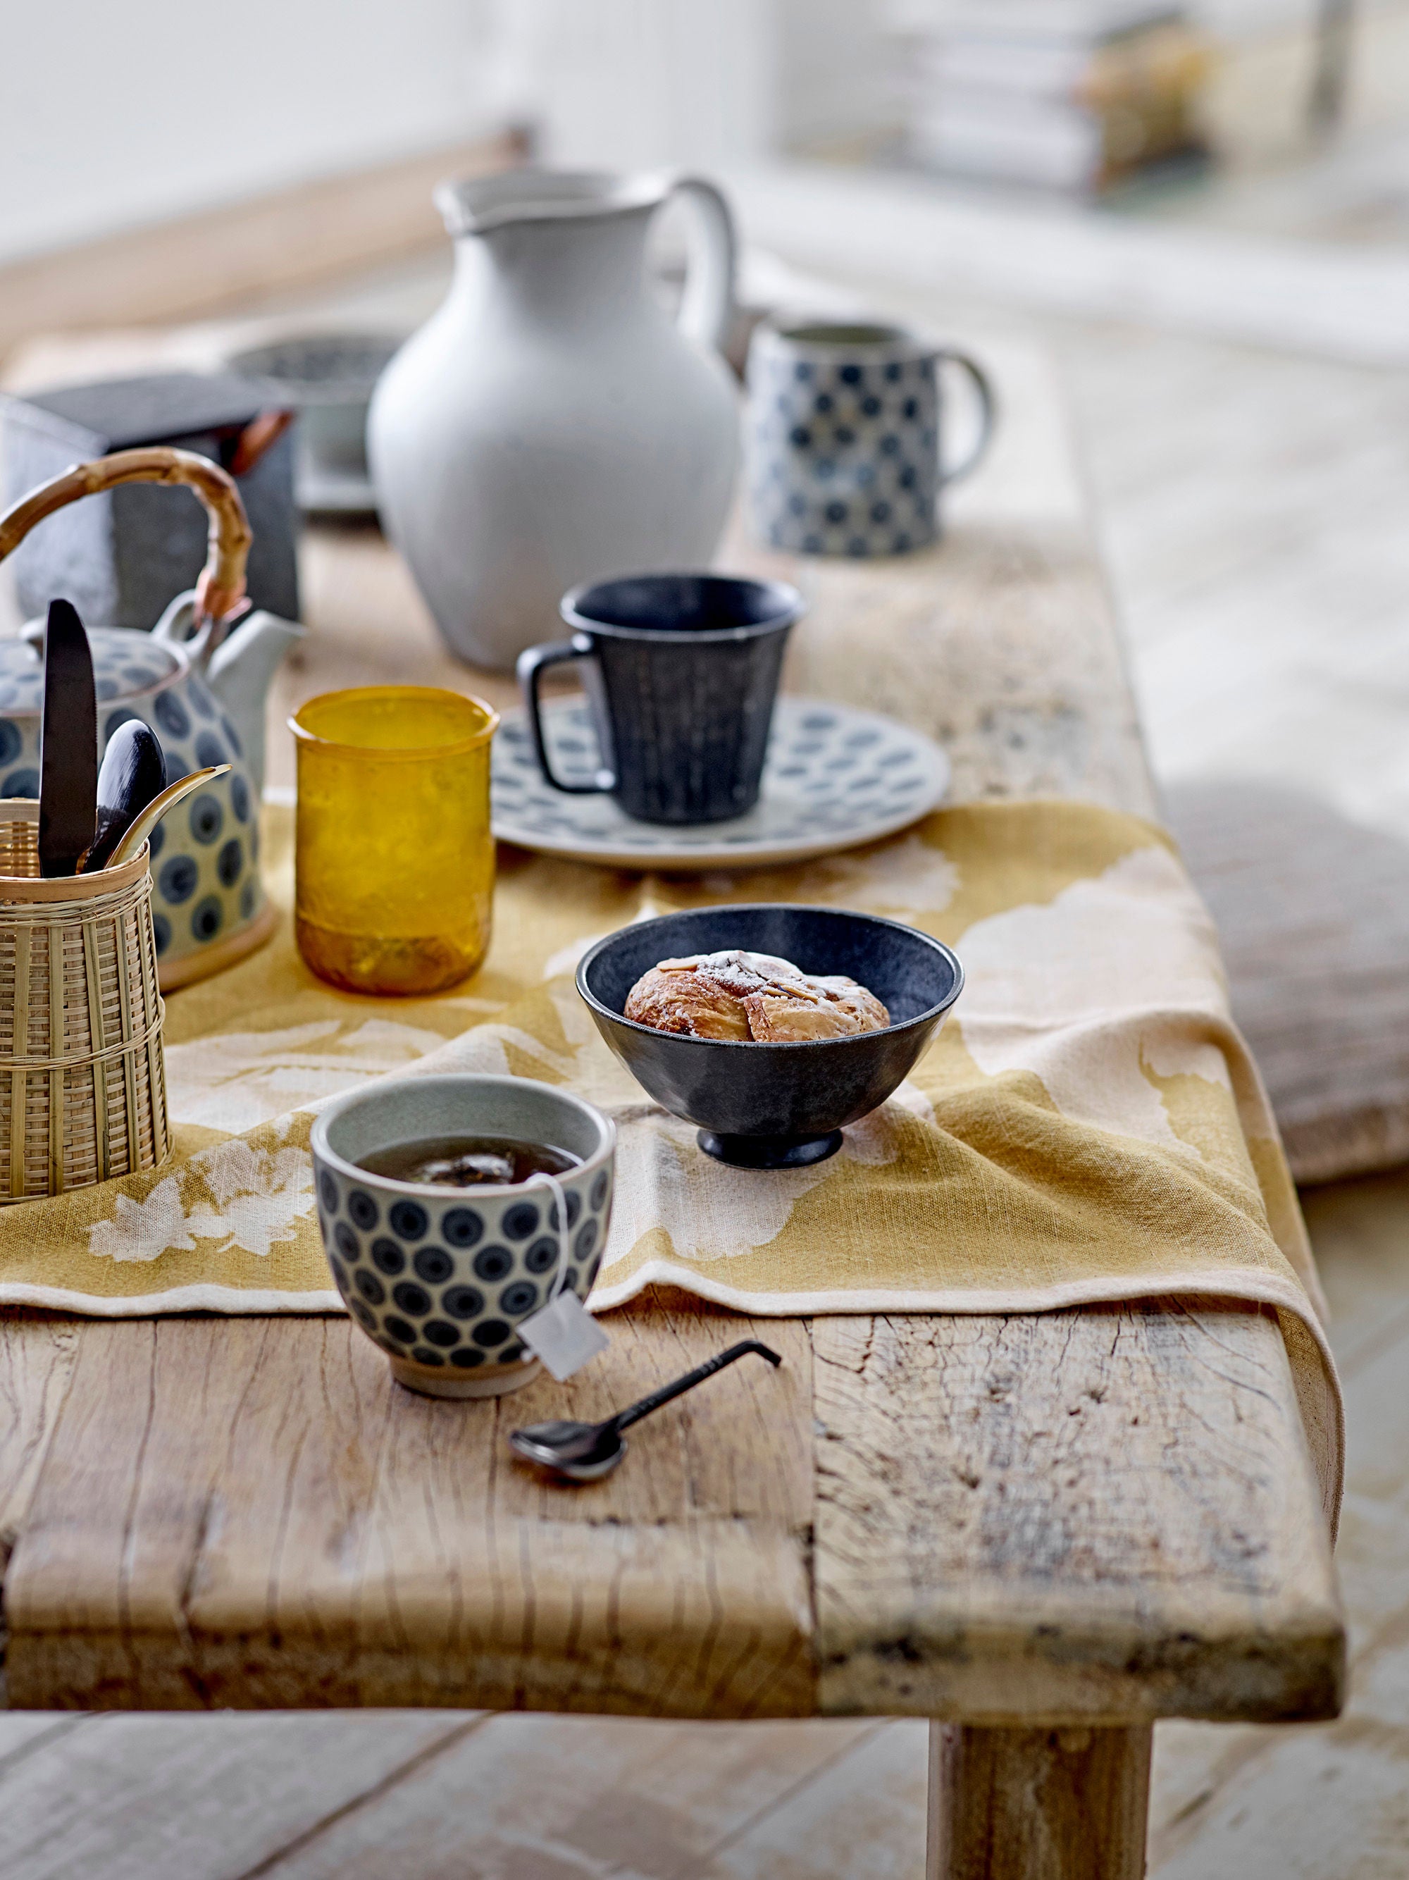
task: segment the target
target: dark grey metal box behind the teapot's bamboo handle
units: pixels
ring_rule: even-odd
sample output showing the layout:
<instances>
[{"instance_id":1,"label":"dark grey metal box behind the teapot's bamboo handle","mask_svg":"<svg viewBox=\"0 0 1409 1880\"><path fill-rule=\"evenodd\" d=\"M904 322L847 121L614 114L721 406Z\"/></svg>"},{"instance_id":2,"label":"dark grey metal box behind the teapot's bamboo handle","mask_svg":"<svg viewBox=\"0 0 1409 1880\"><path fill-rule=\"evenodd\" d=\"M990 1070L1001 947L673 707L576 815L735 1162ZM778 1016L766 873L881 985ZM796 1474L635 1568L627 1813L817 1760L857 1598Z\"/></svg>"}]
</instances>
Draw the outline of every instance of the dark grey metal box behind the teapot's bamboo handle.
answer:
<instances>
[{"instance_id":1,"label":"dark grey metal box behind the teapot's bamboo handle","mask_svg":"<svg viewBox=\"0 0 1409 1880\"><path fill-rule=\"evenodd\" d=\"M254 530L250 600L297 620L291 432L239 474L248 427L269 414L271 402L267 385L233 372L163 372L6 399L6 502L109 451L145 444L195 451L235 470ZM167 602L195 587L205 541L205 509L190 493L128 483L47 517L13 555L15 592L26 615L43 613L54 594L64 594L85 620L145 632Z\"/></svg>"}]
</instances>

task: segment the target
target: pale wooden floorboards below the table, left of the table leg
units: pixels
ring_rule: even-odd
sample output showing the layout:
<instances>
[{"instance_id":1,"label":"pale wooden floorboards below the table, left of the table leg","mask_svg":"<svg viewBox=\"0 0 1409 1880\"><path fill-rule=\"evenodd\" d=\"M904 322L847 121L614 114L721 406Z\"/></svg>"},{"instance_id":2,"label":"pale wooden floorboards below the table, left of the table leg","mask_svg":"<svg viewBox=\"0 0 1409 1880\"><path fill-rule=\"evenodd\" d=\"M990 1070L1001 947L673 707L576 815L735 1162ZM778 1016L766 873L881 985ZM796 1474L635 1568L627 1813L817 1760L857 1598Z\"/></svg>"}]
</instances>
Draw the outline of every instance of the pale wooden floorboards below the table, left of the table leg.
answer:
<instances>
[{"instance_id":1,"label":"pale wooden floorboards below the table, left of the table leg","mask_svg":"<svg viewBox=\"0 0 1409 1880\"><path fill-rule=\"evenodd\" d=\"M921 1874L913 1724L6 1718L0 1745L8 1880Z\"/></svg>"}]
</instances>

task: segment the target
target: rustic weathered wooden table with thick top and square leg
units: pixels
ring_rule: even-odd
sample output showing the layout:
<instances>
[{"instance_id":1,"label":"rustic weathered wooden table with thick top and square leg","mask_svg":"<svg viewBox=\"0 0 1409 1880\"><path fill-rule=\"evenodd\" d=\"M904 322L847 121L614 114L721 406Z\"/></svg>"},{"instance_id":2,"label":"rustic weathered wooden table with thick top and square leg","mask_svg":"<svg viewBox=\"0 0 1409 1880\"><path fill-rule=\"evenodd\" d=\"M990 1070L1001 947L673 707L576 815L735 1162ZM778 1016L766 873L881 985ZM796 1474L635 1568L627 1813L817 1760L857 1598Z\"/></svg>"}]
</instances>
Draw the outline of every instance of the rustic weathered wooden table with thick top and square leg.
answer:
<instances>
[{"instance_id":1,"label":"rustic weathered wooden table with thick top and square leg","mask_svg":"<svg viewBox=\"0 0 1409 1880\"><path fill-rule=\"evenodd\" d=\"M986 353L1001 436L947 543L793 570L789 682L939 735L960 797L1150 812L1054 385ZM509 697L447 660L372 530L314 532L304 579L276 726L387 677ZM282 729L271 750L287 780ZM340 1318L0 1316L9 1703L930 1716L928 1871L1003 1880L1142 1871L1155 1718L1336 1713L1334 1570L1268 1312L746 1327L656 1295L614 1314L571 1414L746 1329L787 1359L766 1389L693 1395L567 1489L502 1440L558 1387L411 1397Z\"/></svg>"}]
</instances>

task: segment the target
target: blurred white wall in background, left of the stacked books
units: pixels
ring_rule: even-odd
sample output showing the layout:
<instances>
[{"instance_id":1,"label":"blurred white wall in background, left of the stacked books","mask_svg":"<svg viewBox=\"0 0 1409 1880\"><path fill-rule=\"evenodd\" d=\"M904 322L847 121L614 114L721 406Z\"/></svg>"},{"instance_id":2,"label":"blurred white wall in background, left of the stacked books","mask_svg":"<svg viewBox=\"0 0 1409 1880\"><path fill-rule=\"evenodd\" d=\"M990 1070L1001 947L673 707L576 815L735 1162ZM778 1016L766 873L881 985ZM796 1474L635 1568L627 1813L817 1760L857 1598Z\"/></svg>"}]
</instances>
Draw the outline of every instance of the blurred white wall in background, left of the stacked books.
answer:
<instances>
[{"instance_id":1,"label":"blurred white wall in background, left of the stacked books","mask_svg":"<svg viewBox=\"0 0 1409 1880\"><path fill-rule=\"evenodd\" d=\"M4 0L0 0L0 6ZM877 0L11 0L0 261L535 120L727 169L889 109Z\"/></svg>"}]
</instances>

